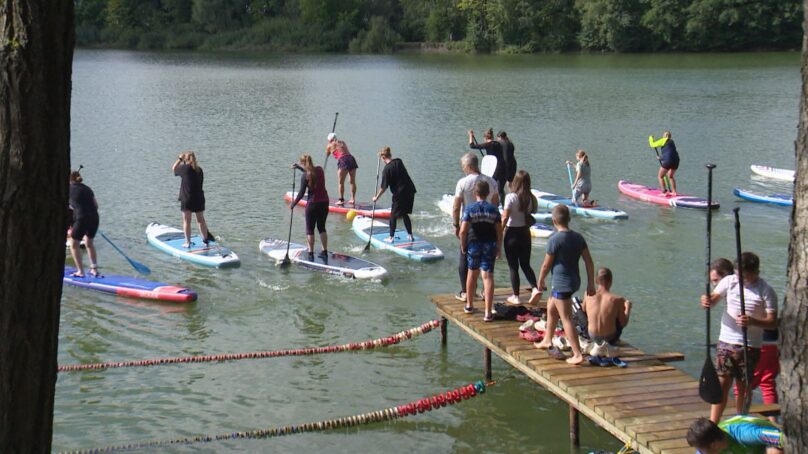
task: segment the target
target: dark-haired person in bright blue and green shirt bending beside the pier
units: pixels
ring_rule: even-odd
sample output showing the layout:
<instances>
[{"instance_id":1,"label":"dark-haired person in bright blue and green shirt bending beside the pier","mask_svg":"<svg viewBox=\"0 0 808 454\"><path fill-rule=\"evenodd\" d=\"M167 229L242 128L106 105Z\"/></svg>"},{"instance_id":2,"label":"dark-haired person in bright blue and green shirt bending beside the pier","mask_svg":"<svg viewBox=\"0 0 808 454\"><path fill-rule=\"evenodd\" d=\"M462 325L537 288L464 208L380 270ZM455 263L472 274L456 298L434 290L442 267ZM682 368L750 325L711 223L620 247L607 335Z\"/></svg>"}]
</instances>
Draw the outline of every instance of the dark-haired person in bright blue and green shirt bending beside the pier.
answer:
<instances>
[{"instance_id":1,"label":"dark-haired person in bright blue and green shirt bending beside the pier","mask_svg":"<svg viewBox=\"0 0 808 454\"><path fill-rule=\"evenodd\" d=\"M699 418L687 431L687 444L701 454L783 452L780 428L755 416L733 416L719 424Z\"/></svg>"}]
</instances>

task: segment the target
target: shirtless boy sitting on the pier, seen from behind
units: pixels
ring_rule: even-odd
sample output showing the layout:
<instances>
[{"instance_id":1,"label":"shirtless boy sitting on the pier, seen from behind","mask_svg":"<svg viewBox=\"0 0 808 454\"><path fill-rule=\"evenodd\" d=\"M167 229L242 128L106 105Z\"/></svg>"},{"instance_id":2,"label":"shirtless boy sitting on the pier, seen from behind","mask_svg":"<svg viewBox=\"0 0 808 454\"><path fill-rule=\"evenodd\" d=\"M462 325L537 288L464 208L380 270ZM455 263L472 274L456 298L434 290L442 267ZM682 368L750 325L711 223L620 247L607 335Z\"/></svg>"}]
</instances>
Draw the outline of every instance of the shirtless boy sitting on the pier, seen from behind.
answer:
<instances>
[{"instance_id":1,"label":"shirtless boy sitting on the pier, seen from behind","mask_svg":"<svg viewBox=\"0 0 808 454\"><path fill-rule=\"evenodd\" d=\"M583 311L586 313L589 338L592 342L614 344L620 340L623 328L628 325L631 314L631 301L612 293L612 270L598 269L596 277L598 290L593 296L584 298Z\"/></svg>"}]
</instances>

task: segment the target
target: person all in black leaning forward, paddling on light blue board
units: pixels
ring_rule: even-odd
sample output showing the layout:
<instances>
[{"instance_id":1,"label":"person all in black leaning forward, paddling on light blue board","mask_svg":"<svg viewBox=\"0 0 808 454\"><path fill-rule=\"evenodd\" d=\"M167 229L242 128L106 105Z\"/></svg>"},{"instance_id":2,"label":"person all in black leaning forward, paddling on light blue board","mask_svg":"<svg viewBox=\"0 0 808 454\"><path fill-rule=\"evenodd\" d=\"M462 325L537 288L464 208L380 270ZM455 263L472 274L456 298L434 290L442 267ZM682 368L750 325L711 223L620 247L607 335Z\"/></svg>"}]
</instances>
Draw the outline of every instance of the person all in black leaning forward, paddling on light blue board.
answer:
<instances>
[{"instance_id":1,"label":"person all in black leaning forward, paddling on light blue board","mask_svg":"<svg viewBox=\"0 0 808 454\"><path fill-rule=\"evenodd\" d=\"M373 201L377 201L388 187L393 194L393 206L390 211L390 237L385 241L388 243L393 242L398 218L404 221L404 228L407 230L410 241L412 241L410 214L412 214L412 205L415 202L415 184L412 182L412 178L407 173L407 168L404 167L401 159L393 159L390 147L384 147L379 150L379 157L384 161L384 170L382 170L382 183L379 187L379 192L373 196Z\"/></svg>"}]
</instances>

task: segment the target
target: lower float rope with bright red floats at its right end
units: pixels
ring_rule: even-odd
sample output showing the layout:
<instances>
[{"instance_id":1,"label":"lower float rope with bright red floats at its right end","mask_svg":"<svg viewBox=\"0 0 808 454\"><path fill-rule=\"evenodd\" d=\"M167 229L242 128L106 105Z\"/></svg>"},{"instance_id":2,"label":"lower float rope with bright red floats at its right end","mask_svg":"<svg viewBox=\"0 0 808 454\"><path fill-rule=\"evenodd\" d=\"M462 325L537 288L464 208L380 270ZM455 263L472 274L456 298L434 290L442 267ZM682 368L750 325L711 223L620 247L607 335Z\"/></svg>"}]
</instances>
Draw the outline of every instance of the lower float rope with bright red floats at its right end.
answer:
<instances>
[{"instance_id":1,"label":"lower float rope with bright red floats at its right end","mask_svg":"<svg viewBox=\"0 0 808 454\"><path fill-rule=\"evenodd\" d=\"M436 410L440 407L456 404L462 400L467 400L476 397L478 394L485 392L486 386L493 386L497 382L483 382L478 381L469 383L468 385L455 388L445 393L435 394L430 397L418 399L410 403L399 405L396 407L386 408L384 410L373 411L355 416L344 416L337 419L328 419L325 421L310 422L296 425L288 425L281 427L273 427L270 429L257 429L246 432L230 432L219 435L197 435L195 437L175 438L172 440L155 440L146 441L141 443L130 443L126 445L107 446L103 448L80 449L76 451L62 451L60 454L94 454L100 452L114 452L114 451L131 451L134 449L156 448L160 446L178 445L178 444L193 444L221 440L236 440L247 438L270 438L280 437L283 435L292 435L306 432L323 432L327 430L341 429L343 427L353 427L365 424L371 424L382 421L391 421L398 418L404 418L416 413L423 413L425 411Z\"/></svg>"}]
</instances>

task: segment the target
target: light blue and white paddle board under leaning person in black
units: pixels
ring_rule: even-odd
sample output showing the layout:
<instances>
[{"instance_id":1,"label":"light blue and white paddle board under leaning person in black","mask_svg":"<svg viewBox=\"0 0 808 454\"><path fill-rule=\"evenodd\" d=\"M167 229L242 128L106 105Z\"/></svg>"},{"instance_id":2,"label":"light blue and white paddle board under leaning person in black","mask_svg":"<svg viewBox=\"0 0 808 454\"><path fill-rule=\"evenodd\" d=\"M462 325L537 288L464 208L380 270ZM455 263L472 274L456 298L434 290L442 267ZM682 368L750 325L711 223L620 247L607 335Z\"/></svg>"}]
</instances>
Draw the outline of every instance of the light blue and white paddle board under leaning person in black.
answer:
<instances>
[{"instance_id":1,"label":"light blue and white paddle board under leaning person in black","mask_svg":"<svg viewBox=\"0 0 808 454\"><path fill-rule=\"evenodd\" d=\"M390 238L390 226L384 222L373 222L373 237L370 238L370 244L379 249L388 249L398 255L407 257L408 259L418 260L421 262L434 262L436 260L443 260L443 252L429 241L424 240L418 235L413 235L412 241L407 237L405 230L396 229L393 236L393 242L385 241ZM370 237L371 219L365 216L357 216L353 220L352 229L356 236L362 241L367 241Z\"/></svg>"}]
</instances>

